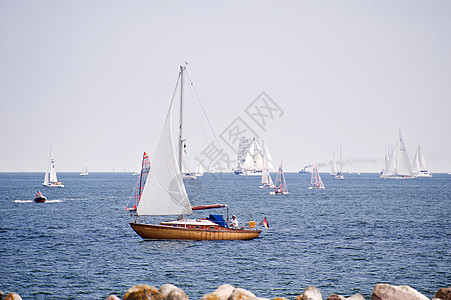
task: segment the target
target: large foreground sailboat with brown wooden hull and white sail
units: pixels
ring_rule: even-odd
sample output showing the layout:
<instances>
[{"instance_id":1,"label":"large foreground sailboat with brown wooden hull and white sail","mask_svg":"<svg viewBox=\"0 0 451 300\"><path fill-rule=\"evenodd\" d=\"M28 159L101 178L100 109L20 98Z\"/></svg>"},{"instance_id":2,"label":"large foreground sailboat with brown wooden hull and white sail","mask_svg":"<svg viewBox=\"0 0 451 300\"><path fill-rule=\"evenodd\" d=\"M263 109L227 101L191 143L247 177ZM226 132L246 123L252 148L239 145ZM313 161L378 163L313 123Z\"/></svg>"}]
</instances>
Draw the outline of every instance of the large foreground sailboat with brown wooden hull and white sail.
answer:
<instances>
[{"instance_id":1,"label":"large foreground sailboat with brown wooden hull and white sail","mask_svg":"<svg viewBox=\"0 0 451 300\"><path fill-rule=\"evenodd\" d=\"M180 67L174 95L163 127L160 141L152 160L152 171L141 193L136 219L130 223L135 232L145 240L250 240L259 236L261 230L255 222L248 229L231 229L221 215L205 219L186 219L195 210L227 207L224 204L192 207L182 179L183 151L183 80L186 67ZM180 119L178 158L172 134L172 115L175 95L180 87ZM149 224L146 216L178 216L176 220Z\"/></svg>"}]
</instances>

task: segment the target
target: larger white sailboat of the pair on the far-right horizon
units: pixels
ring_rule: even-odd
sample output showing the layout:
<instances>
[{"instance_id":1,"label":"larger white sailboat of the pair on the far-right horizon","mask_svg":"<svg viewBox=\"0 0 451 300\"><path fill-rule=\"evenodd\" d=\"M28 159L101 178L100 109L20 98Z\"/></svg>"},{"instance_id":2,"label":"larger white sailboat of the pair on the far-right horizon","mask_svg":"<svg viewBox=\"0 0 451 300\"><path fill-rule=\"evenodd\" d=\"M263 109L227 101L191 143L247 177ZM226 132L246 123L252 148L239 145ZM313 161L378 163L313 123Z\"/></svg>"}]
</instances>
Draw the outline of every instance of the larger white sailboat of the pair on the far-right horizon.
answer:
<instances>
[{"instance_id":1,"label":"larger white sailboat of the pair on the far-right horizon","mask_svg":"<svg viewBox=\"0 0 451 300\"><path fill-rule=\"evenodd\" d=\"M390 153L390 158L385 166L381 178L385 179L412 179L416 178L413 175L412 167L410 166L409 156L407 155L404 138L399 129L398 139L396 145Z\"/></svg>"}]
</instances>

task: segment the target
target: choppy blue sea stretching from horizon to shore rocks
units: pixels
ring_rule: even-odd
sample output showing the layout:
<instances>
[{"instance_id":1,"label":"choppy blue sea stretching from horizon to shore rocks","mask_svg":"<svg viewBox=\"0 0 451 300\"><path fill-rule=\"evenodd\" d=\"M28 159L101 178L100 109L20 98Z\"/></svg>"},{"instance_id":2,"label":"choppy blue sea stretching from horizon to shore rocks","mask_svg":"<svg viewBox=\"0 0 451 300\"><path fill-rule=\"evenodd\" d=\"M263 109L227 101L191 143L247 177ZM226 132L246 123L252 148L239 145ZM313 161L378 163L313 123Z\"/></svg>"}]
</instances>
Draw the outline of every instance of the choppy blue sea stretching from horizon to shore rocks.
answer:
<instances>
[{"instance_id":1,"label":"choppy blue sea stretching from horizon to shore rocks","mask_svg":"<svg viewBox=\"0 0 451 300\"><path fill-rule=\"evenodd\" d=\"M310 174L285 176L288 195L270 195L258 176L186 182L192 205L227 204L240 225L266 217L269 228L254 240L144 241L125 210L137 182L131 173L58 173L64 188L43 187L44 173L0 173L0 290L23 299L105 299L136 284L170 283L200 299L231 284L293 299L315 286L324 299L370 299L377 283L429 298L451 286L451 175L323 173L325 190L308 189ZM46 203L32 201L37 191ZM209 213L227 211L194 217Z\"/></svg>"}]
</instances>

